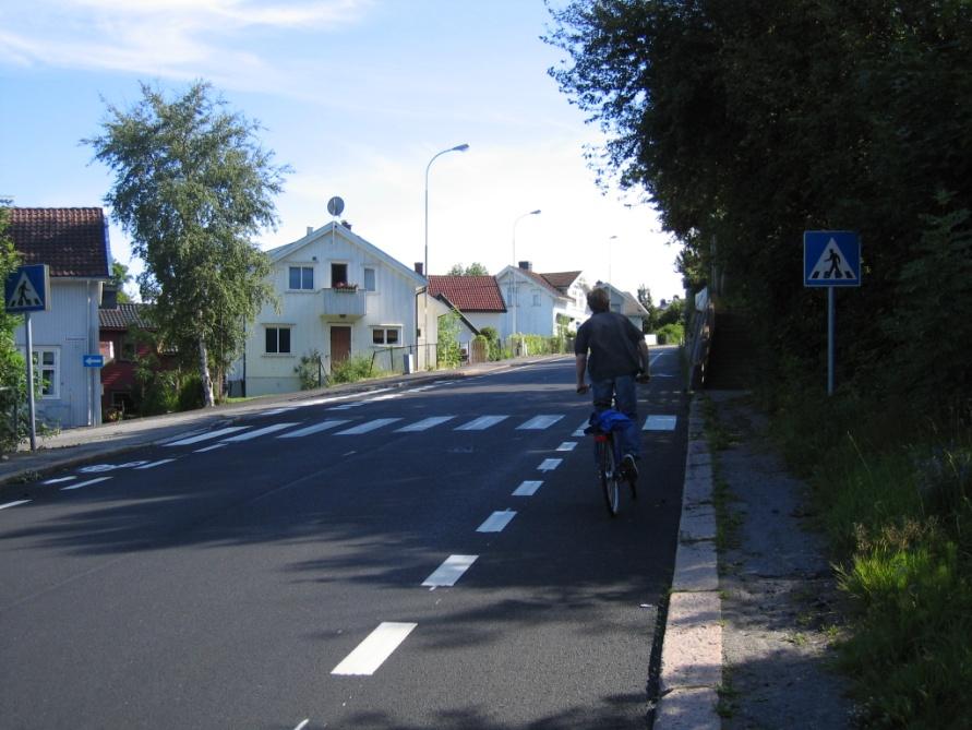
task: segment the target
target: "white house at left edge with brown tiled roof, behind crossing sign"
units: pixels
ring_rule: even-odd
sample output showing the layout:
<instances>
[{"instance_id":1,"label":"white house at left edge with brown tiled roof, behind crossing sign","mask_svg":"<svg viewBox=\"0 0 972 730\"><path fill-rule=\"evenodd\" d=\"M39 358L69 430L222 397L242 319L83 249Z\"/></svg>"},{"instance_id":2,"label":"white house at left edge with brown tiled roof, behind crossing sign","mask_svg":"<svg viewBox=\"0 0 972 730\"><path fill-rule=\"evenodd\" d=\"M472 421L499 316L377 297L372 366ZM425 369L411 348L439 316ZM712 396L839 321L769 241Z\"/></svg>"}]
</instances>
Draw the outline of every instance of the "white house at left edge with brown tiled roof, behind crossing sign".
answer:
<instances>
[{"instance_id":1,"label":"white house at left edge with brown tiled roof, behind crossing sign","mask_svg":"<svg viewBox=\"0 0 972 730\"><path fill-rule=\"evenodd\" d=\"M22 263L47 264L49 311L31 314L34 373L41 383L38 419L71 428L101 422L98 368L98 304L109 279L108 224L99 207L9 208L9 234ZM26 348L25 327L16 345Z\"/></svg>"}]
</instances>

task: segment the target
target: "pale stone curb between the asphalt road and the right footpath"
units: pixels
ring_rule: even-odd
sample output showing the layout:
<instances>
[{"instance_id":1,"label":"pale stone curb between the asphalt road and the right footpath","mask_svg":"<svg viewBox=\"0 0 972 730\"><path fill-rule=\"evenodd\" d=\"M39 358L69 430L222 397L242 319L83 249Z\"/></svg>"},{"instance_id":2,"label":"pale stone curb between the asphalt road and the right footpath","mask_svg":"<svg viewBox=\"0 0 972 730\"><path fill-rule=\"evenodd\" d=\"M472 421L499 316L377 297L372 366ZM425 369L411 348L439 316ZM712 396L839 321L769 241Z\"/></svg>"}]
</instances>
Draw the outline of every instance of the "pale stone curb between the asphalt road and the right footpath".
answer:
<instances>
[{"instance_id":1,"label":"pale stone curb between the asphalt road and the right footpath","mask_svg":"<svg viewBox=\"0 0 972 730\"><path fill-rule=\"evenodd\" d=\"M719 730L722 601L716 551L712 457L698 402L688 408L688 448L675 572L661 650L655 730Z\"/></svg>"}]
</instances>

